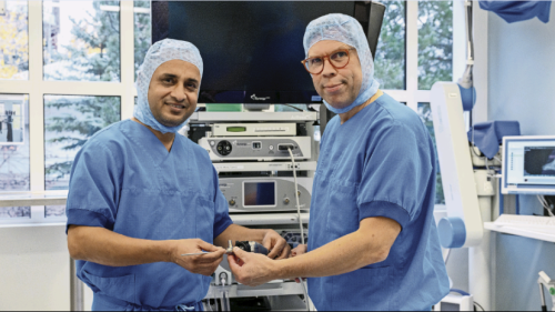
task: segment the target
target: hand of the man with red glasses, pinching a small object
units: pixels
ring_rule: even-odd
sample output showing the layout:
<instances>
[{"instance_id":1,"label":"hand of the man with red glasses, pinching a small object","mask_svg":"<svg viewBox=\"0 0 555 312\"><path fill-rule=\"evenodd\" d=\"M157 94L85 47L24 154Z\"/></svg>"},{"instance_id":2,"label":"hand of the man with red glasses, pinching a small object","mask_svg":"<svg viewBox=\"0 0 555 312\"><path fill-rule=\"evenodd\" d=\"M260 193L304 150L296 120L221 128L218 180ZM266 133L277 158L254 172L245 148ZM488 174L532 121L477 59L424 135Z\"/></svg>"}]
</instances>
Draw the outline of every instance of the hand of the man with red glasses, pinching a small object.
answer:
<instances>
[{"instance_id":1,"label":"hand of the man with red glasses, pinching a small object","mask_svg":"<svg viewBox=\"0 0 555 312\"><path fill-rule=\"evenodd\" d=\"M228 255L228 261L238 282L258 286L274 280L273 272L278 272L279 261L273 261L260 253L246 252L240 248L234 248L233 253L234 255Z\"/></svg>"}]
</instances>

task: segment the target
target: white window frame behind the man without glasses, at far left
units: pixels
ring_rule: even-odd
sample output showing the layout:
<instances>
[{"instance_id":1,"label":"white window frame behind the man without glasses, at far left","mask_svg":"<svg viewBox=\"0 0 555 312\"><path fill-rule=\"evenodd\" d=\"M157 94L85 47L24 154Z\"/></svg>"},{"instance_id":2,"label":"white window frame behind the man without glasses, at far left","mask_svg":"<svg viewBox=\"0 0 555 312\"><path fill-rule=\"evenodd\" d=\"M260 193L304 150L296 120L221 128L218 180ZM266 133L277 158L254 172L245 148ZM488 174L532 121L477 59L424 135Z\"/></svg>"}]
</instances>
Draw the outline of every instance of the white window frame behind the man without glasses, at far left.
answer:
<instances>
[{"instance_id":1,"label":"white window frame behind the man without glasses, at far left","mask_svg":"<svg viewBox=\"0 0 555 312\"><path fill-rule=\"evenodd\" d=\"M120 70L119 82L99 81L44 81L42 52L42 1L28 1L29 80L2 80L0 93L29 94L30 192L31 194L59 194L44 191L44 95L109 95L121 99L121 120L133 115L134 88L134 33L133 1L120 1ZM124 57L122 57L124 56ZM64 223L65 217L46 218L44 205L31 205L31 218L0 220L0 224Z\"/></svg>"}]
</instances>

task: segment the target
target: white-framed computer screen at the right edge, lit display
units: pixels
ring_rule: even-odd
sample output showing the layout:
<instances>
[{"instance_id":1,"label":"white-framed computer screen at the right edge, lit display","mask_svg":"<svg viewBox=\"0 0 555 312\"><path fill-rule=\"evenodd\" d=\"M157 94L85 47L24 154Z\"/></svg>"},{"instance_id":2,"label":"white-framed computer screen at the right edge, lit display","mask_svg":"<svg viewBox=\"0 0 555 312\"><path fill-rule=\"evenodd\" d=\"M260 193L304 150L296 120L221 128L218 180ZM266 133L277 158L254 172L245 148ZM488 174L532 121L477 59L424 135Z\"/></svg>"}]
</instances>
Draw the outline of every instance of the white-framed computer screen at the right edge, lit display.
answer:
<instances>
[{"instance_id":1,"label":"white-framed computer screen at the right edge, lit display","mask_svg":"<svg viewBox=\"0 0 555 312\"><path fill-rule=\"evenodd\" d=\"M502 193L555 194L555 137L503 138Z\"/></svg>"}]
</instances>

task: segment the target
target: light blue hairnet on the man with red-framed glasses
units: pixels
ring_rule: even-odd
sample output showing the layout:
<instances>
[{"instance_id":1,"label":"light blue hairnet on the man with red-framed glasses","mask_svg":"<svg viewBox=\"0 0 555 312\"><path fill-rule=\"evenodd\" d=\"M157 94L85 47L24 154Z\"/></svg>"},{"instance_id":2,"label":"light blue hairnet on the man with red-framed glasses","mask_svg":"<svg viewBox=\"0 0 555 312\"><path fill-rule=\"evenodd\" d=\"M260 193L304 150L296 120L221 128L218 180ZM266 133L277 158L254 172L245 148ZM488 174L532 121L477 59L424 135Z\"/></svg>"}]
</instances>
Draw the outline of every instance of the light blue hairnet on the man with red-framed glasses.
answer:
<instances>
[{"instance_id":1,"label":"light blue hairnet on the man with red-framed glasses","mask_svg":"<svg viewBox=\"0 0 555 312\"><path fill-rule=\"evenodd\" d=\"M366 102L377 92L380 87L380 83L374 79L374 61L372 60L369 40L357 20L340 13L323 16L309 23L303 39L306 58L310 48L323 40L335 40L355 48L361 60L362 84L354 102L346 108L336 109L324 100L324 104L329 110L334 113L344 113Z\"/></svg>"}]
</instances>

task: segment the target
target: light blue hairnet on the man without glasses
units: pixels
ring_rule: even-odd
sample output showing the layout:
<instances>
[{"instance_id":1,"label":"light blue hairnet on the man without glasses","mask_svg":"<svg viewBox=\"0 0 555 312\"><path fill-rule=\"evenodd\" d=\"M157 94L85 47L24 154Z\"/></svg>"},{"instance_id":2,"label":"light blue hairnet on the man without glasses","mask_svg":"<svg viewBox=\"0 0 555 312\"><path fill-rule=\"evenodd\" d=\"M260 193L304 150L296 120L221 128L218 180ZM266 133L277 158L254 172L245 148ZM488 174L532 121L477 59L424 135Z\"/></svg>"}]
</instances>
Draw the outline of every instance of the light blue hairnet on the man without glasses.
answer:
<instances>
[{"instance_id":1,"label":"light blue hairnet on the man without glasses","mask_svg":"<svg viewBox=\"0 0 555 312\"><path fill-rule=\"evenodd\" d=\"M152 74L158 67L171 60L182 60L192 63L199 69L202 78L202 58L194 44L181 40L164 39L150 47L137 74L137 105L133 110L133 117L162 133L175 133L186 122L184 121L176 127L165 127L154 118L150 110L149 85Z\"/></svg>"}]
</instances>

